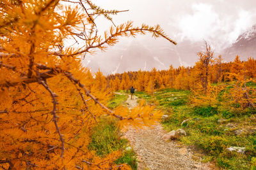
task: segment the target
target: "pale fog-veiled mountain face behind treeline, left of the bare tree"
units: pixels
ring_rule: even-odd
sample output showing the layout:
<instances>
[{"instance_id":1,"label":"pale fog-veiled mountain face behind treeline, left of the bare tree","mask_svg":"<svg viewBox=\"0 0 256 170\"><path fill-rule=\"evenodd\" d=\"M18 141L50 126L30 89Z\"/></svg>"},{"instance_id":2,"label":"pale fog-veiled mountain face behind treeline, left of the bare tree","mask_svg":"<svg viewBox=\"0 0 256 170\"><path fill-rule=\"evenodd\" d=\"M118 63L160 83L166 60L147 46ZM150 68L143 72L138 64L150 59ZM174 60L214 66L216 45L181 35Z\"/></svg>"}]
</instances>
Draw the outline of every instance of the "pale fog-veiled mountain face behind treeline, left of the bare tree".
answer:
<instances>
[{"instance_id":1,"label":"pale fog-veiled mountain face behind treeline, left of the bare tree","mask_svg":"<svg viewBox=\"0 0 256 170\"><path fill-rule=\"evenodd\" d=\"M182 41L178 45L166 43L165 39L143 43L134 39L129 46L118 45L109 48L107 52L99 52L85 60L85 66L92 71L102 71L104 74L123 73L124 71L150 71L173 67L192 66L197 60L196 53L204 50L204 44Z\"/></svg>"}]
</instances>

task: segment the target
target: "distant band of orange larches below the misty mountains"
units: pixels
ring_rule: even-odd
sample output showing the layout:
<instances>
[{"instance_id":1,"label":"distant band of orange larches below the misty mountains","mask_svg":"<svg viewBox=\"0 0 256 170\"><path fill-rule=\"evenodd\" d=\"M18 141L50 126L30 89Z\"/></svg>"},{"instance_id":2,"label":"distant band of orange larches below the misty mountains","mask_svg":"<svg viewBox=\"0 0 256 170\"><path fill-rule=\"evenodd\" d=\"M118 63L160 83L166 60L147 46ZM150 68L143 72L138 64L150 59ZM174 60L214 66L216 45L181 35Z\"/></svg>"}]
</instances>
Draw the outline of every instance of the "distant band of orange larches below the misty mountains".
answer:
<instances>
[{"instance_id":1,"label":"distant band of orange larches below the misty mountains","mask_svg":"<svg viewBox=\"0 0 256 170\"><path fill-rule=\"evenodd\" d=\"M193 67L173 68L171 65L168 70L159 71L153 68L151 71L129 71L111 74L106 79L108 87L113 91L128 90L133 86L139 91L152 93L162 88L207 89L209 83L233 81L238 75L246 80L256 77L256 60L252 57L241 61L237 55L233 62L223 62L220 55L216 59L212 57L208 65L205 65L204 61L204 57L200 57Z\"/></svg>"}]
</instances>

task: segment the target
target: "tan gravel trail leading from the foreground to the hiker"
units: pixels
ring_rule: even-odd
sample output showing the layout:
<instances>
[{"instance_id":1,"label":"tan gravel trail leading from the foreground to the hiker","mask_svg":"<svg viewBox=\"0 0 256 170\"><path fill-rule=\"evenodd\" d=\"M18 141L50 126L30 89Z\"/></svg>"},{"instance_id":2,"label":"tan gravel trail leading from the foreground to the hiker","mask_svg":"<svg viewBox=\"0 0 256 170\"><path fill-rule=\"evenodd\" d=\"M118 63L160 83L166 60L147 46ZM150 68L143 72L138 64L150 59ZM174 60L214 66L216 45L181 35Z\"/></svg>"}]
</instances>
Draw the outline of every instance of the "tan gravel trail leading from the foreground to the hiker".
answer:
<instances>
[{"instance_id":1,"label":"tan gravel trail leading from the foreground to the hiker","mask_svg":"<svg viewBox=\"0 0 256 170\"><path fill-rule=\"evenodd\" d=\"M125 103L129 108L134 108L138 97L131 100L129 95ZM138 170L170 170L170 169L214 169L210 164L196 162L193 152L185 146L180 146L174 141L166 142L161 137L166 132L158 124L154 128L145 128L140 131L130 129L124 137L129 139L131 146L138 155Z\"/></svg>"}]
</instances>

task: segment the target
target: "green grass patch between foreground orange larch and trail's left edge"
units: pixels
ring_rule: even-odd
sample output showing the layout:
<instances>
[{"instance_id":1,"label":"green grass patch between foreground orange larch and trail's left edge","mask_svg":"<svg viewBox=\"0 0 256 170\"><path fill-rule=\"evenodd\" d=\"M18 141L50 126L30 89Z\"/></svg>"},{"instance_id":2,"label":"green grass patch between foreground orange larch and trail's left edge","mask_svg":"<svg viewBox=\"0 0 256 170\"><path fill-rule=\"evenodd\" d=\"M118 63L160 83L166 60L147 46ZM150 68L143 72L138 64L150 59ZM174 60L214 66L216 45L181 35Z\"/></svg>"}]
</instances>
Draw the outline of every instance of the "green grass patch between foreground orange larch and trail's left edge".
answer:
<instances>
[{"instance_id":1,"label":"green grass patch between foreground orange larch and trail's left edge","mask_svg":"<svg viewBox=\"0 0 256 170\"><path fill-rule=\"evenodd\" d=\"M116 164L129 164L132 169L137 169L136 155L134 151L125 150L129 147L127 139L120 139L120 131L114 122L106 120L93 128L92 141L88 145L89 150L94 150L96 155L105 157L111 152L122 150L122 157L115 160Z\"/></svg>"}]
</instances>

